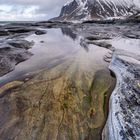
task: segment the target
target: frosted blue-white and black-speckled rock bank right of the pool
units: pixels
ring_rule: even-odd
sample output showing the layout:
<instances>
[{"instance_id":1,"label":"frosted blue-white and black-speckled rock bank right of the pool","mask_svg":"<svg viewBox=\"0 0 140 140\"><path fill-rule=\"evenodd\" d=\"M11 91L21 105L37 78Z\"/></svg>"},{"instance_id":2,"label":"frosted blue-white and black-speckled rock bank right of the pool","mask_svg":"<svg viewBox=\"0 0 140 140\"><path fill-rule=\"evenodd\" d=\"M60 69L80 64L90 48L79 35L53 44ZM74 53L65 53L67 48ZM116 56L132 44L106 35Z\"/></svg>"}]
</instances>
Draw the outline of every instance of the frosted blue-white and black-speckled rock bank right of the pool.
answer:
<instances>
[{"instance_id":1,"label":"frosted blue-white and black-speckled rock bank right of the pool","mask_svg":"<svg viewBox=\"0 0 140 140\"><path fill-rule=\"evenodd\" d=\"M114 54L110 69L116 74L117 85L110 98L103 140L139 140L140 62L134 56Z\"/></svg>"}]
</instances>

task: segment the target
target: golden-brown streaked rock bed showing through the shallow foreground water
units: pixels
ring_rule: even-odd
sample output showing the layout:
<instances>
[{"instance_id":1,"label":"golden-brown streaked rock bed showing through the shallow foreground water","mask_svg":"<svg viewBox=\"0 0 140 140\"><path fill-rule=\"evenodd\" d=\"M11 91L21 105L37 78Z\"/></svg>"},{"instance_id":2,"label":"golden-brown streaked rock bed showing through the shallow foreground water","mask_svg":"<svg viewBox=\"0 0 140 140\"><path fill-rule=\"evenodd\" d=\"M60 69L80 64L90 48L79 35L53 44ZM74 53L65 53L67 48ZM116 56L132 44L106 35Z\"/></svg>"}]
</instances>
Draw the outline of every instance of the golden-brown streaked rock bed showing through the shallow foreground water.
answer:
<instances>
[{"instance_id":1,"label":"golden-brown streaked rock bed showing through the shallow foreground water","mask_svg":"<svg viewBox=\"0 0 140 140\"><path fill-rule=\"evenodd\" d=\"M86 70L61 64L3 86L1 140L99 140L114 79Z\"/></svg>"}]
</instances>

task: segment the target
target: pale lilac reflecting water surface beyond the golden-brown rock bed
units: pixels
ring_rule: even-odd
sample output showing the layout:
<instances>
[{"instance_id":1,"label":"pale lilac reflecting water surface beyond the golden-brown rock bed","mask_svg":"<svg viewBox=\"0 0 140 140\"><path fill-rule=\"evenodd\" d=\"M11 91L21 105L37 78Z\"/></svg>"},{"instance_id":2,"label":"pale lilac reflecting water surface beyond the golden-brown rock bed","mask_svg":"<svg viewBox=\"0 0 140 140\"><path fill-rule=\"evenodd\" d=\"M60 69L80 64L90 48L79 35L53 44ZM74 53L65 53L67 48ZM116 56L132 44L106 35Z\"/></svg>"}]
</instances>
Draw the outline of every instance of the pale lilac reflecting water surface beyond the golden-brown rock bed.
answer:
<instances>
[{"instance_id":1,"label":"pale lilac reflecting water surface beyond the golden-brown rock bed","mask_svg":"<svg viewBox=\"0 0 140 140\"><path fill-rule=\"evenodd\" d=\"M29 60L18 64L14 71L0 77L0 86L29 75L29 73L51 69L71 60L76 62L79 69L85 69L86 65L88 69L90 63L93 64L93 71L106 66L103 56L107 50L97 46L87 46L84 39L70 28L49 29L47 34L40 36L33 34L27 40L35 42L29 50L34 55Z\"/></svg>"}]
</instances>

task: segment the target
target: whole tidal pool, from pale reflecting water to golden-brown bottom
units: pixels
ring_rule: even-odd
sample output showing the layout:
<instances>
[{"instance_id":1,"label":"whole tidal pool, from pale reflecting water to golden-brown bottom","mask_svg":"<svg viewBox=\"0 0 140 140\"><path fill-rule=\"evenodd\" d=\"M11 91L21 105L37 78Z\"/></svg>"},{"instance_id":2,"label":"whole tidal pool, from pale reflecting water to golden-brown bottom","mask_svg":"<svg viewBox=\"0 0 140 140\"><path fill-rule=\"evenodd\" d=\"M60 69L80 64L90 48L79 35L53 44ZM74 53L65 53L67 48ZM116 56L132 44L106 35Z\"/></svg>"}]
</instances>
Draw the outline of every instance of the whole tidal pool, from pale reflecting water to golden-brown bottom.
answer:
<instances>
[{"instance_id":1,"label":"whole tidal pool, from pale reflecting water to golden-brown bottom","mask_svg":"<svg viewBox=\"0 0 140 140\"><path fill-rule=\"evenodd\" d=\"M33 56L1 77L0 85L34 76L0 99L0 137L99 140L115 83L103 59L109 50L85 44L69 29L26 39L35 42Z\"/></svg>"}]
</instances>

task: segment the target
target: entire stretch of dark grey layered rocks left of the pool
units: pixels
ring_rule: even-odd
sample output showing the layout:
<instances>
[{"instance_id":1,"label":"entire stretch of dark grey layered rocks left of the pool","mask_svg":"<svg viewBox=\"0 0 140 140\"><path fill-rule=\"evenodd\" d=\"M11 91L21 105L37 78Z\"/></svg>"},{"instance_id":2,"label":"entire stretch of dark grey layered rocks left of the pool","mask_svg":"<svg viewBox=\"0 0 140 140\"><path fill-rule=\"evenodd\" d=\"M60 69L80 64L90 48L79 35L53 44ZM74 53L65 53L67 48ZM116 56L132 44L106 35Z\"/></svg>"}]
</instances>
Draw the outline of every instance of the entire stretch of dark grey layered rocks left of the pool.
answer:
<instances>
[{"instance_id":1,"label":"entire stretch of dark grey layered rocks left of the pool","mask_svg":"<svg viewBox=\"0 0 140 140\"><path fill-rule=\"evenodd\" d=\"M31 26L8 24L0 30L0 76L14 70L15 65L29 59L33 54L28 50L34 42L24 38L31 34L45 34L43 30Z\"/></svg>"}]
</instances>

